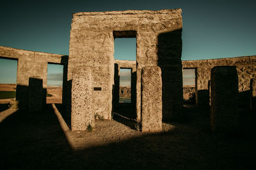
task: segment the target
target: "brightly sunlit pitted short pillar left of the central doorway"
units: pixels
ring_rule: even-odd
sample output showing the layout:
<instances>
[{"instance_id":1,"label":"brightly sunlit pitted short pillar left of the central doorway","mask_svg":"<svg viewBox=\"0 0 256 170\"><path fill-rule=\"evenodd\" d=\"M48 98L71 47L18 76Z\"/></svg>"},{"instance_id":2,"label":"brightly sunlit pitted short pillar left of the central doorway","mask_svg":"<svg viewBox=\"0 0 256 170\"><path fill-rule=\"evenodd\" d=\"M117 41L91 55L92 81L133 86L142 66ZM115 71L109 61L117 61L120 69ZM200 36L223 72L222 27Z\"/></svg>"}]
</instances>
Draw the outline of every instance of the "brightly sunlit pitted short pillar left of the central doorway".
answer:
<instances>
[{"instance_id":1,"label":"brightly sunlit pitted short pillar left of the central doorway","mask_svg":"<svg viewBox=\"0 0 256 170\"><path fill-rule=\"evenodd\" d=\"M72 73L71 129L85 131L95 125L92 112L92 67L76 67Z\"/></svg>"}]
</instances>

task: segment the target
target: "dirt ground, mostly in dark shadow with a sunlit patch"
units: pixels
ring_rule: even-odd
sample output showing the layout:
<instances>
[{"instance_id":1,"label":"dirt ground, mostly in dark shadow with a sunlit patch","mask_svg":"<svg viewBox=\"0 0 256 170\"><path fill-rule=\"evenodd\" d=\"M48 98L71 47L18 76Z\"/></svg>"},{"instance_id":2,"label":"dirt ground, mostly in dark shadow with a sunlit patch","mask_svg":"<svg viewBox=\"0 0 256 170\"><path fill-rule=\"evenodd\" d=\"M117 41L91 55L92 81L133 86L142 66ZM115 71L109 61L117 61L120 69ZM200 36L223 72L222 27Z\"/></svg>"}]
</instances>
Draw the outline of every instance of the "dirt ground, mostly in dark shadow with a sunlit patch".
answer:
<instances>
[{"instance_id":1,"label":"dirt ground, mostly in dark shadow with a sunlit patch","mask_svg":"<svg viewBox=\"0 0 256 170\"><path fill-rule=\"evenodd\" d=\"M129 120L97 120L92 132L68 130L65 107L42 113L1 106L1 169L254 169L255 116L241 111L232 134L209 131L209 108L184 106L184 117L143 133ZM125 122L126 121L126 122ZM66 124L66 122L68 124ZM132 123L132 122L130 122Z\"/></svg>"}]
</instances>

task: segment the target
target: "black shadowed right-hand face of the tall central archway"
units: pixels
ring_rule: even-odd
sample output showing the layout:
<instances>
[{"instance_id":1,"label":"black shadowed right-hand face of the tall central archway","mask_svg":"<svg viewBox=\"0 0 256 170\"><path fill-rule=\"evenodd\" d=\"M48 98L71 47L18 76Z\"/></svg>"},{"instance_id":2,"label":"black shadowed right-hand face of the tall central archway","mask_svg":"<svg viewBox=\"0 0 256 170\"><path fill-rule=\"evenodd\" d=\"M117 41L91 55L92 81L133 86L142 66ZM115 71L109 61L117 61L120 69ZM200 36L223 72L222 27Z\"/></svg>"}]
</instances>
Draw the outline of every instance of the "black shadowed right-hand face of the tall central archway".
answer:
<instances>
[{"instance_id":1,"label":"black shadowed right-hand face of the tall central archway","mask_svg":"<svg viewBox=\"0 0 256 170\"><path fill-rule=\"evenodd\" d=\"M163 120L170 120L179 117L182 111L181 30L159 34L157 41L157 63L163 83Z\"/></svg>"}]
</instances>

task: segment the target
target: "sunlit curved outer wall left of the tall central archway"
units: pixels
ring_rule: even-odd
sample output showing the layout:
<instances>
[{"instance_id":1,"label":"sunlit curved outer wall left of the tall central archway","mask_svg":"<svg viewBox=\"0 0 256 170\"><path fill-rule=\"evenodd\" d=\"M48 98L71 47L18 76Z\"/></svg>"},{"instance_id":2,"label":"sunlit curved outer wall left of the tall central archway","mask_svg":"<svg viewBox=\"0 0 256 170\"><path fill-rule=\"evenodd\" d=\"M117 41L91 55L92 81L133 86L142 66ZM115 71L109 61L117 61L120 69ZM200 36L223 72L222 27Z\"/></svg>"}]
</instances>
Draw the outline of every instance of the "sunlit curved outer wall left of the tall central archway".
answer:
<instances>
[{"instance_id":1,"label":"sunlit curved outer wall left of the tall central archway","mask_svg":"<svg viewBox=\"0 0 256 170\"><path fill-rule=\"evenodd\" d=\"M29 103L29 78L40 77L43 80L43 88L47 89L47 63L63 64L67 70L67 56L54 53L32 52L6 46L0 46L0 57L5 59L17 59L17 90L16 100L20 108L28 108ZM67 73L63 72L63 91L66 89ZM63 93L64 94L64 93ZM46 102L46 90L44 90Z\"/></svg>"}]
</instances>

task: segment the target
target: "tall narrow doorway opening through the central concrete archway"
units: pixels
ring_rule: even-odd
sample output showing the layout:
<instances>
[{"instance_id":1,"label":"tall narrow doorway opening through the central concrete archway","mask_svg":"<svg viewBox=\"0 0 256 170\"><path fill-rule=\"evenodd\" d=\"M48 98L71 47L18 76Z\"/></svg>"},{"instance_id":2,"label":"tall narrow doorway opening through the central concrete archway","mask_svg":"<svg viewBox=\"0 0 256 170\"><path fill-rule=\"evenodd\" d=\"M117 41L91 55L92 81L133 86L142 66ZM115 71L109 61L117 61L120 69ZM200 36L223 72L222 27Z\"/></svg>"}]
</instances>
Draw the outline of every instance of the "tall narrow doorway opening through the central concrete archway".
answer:
<instances>
[{"instance_id":1,"label":"tall narrow doorway opening through the central concrete archway","mask_svg":"<svg viewBox=\"0 0 256 170\"><path fill-rule=\"evenodd\" d=\"M118 122L126 124L131 120L136 120L137 115L136 31L114 31L113 36L115 38L113 118ZM132 65L133 63L134 65ZM131 127L131 124L132 122L128 126Z\"/></svg>"}]
</instances>

